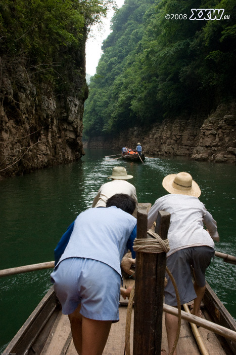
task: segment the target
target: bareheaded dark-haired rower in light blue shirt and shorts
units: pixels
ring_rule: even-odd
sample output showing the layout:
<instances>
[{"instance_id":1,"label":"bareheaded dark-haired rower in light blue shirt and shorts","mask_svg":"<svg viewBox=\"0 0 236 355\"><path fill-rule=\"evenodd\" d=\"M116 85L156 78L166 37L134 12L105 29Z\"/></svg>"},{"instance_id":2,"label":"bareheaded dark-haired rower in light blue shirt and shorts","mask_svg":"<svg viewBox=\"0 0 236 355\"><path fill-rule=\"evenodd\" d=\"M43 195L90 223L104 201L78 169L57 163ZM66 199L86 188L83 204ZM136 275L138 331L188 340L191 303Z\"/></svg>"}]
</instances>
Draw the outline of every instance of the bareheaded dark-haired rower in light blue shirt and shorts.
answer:
<instances>
[{"instance_id":1,"label":"bareheaded dark-haired rower in light blue shirt and shorts","mask_svg":"<svg viewBox=\"0 0 236 355\"><path fill-rule=\"evenodd\" d=\"M100 355L112 323L119 321L121 260L132 249L136 219L135 201L115 194L106 208L89 208L74 222L70 240L51 274L54 289L68 314L78 354Z\"/></svg>"}]
</instances>

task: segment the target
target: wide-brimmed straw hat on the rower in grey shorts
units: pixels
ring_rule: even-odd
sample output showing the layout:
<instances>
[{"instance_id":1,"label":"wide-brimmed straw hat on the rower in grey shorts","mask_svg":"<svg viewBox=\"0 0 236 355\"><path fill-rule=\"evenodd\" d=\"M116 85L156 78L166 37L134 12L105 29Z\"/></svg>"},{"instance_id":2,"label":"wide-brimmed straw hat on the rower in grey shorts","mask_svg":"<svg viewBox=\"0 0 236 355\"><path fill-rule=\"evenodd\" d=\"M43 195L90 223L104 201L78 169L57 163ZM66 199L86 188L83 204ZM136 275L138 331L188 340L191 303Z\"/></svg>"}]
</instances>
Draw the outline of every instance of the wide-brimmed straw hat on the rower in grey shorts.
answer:
<instances>
[{"instance_id":1,"label":"wide-brimmed straw hat on the rower in grey shorts","mask_svg":"<svg viewBox=\"0 0 236 355\"><path fill-rule=\"evenodd\" d=\"M201 190L188 172L179 172L164 177L162 186L171 194L199 197Z\"/></svg>"}]
</instances>

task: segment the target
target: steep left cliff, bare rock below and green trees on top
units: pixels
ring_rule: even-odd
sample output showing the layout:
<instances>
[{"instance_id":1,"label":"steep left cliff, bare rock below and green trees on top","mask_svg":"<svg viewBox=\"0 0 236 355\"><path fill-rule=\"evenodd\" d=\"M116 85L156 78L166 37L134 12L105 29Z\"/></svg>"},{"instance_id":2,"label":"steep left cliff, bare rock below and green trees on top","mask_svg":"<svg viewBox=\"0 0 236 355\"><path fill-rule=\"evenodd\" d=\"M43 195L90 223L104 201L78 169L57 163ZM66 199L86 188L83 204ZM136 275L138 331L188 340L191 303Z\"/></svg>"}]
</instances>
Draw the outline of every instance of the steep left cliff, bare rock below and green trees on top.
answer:
<instances>
[{"instance_id":1,"label":"steep left cliff, bare rock below and green trees on top","mask_svg":"<svg viewBox=\"0 0 236 355\"><path fill-rule=\"evenodd\" d=\"M1 0L0 175L82 155L85 41L91 25L100 22L112 4L112 0ZM74 102L76 122L66 136Z\"/></svg>"}]
</instances>

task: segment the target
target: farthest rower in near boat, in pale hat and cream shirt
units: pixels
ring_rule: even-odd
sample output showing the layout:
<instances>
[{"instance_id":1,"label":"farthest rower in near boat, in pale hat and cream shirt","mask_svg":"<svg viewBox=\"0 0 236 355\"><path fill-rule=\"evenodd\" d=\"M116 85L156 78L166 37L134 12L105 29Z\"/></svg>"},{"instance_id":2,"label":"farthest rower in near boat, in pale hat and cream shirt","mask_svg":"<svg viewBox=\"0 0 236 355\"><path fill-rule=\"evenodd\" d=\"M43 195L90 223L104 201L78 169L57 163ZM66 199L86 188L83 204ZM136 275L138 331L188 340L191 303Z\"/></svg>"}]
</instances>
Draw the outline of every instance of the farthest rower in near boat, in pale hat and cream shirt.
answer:
<instances>
[{"instance_id":1,"label":"farthest rower in near boat, in pale hat and cream shirt","mask_svg":"<svg viewBox=\"0 0 236 355\"><path fill-rule=\"evenodd\" d=\"M137 194L135 187L128 183L126 180L132 179L133 175L128 175L126 169L123 166L115 166L112 171L112 175L108 179L112 181L102 185L98 191L97 196L92 202L92 207L105 207L107 200L119 193L127 194L131 196L135 203L136 208L133 216L137 216Z\"/></svg>"}]
</instances>

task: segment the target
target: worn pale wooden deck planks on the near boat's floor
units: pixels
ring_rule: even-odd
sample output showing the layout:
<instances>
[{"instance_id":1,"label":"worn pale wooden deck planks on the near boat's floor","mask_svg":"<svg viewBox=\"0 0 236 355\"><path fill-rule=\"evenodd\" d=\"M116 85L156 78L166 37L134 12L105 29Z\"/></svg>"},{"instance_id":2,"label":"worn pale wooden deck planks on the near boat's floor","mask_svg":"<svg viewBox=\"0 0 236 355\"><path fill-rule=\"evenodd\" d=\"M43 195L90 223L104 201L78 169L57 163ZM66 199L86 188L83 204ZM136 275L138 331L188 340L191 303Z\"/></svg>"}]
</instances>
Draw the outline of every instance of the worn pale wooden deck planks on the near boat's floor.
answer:
<instances>
[{"instance_id":1,"label":"worn pale wooden deck planks on the near boat's floor","mask_svg":"<svg viewBox=\"0 0 236 355\"><path fill-rule=\"evenodd\" d=\"M131 283L131 282L130 282ZM125 347L125 324L126 324L127 307L119 308L120 321L114 323L108 337L103 355L124 355ZM163 314L163 332L162 332L162 348L168 350L167 335L165 330L165 313ZM219 340L214 333L199 328L203 342L208 350L209 355L226 355L227 352L222 348ZM133 310L130 330L130 353L132 354L132 339L133 339ZM193 337L190 325L182 319L179 341L177 344L177 352L179 354L200 355L197 343ZM55 325L50 333L40 355L77 355L74 348L73 340L70 332L70 324L68 316L59 314Z\"/></svg>"}]
</instances>

